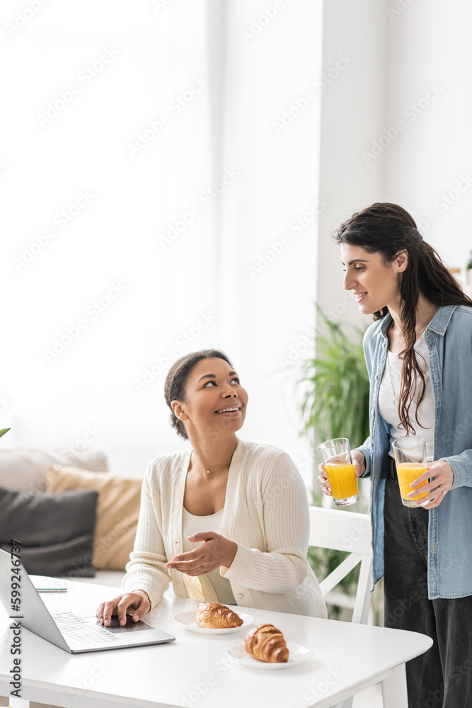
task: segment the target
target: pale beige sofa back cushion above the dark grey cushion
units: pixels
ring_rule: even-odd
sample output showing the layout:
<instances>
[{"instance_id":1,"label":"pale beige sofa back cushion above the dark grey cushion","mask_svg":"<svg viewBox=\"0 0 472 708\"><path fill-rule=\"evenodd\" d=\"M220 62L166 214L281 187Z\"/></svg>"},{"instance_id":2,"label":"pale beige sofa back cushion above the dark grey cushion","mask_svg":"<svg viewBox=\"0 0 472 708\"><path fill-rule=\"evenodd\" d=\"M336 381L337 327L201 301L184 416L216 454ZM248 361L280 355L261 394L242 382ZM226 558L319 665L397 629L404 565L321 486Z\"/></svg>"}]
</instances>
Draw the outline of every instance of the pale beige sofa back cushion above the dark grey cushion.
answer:
<instances>
[{"instance_id":1,"label":"pale beige sofa back cushion above the dark grey cushion","mask_svg":"<svg viewBox=\"0 0 472 708\"><path fill-rule=\"evenodd\" d=\"M45 491L46 472L54 463L108 470L103 452L94 450L0 450L0 486L14 491Z\"/></svg>"}]
</instances>

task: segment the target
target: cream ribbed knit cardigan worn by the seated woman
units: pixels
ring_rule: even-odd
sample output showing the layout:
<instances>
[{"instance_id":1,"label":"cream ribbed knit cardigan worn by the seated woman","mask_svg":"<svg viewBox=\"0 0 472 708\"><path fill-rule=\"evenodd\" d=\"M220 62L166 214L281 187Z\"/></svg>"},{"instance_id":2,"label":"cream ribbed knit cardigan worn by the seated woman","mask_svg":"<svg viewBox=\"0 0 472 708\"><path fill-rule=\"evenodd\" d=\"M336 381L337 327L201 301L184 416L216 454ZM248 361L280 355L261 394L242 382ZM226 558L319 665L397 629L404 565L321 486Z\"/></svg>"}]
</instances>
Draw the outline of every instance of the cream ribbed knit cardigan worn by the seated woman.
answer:
<instances>
[{"instance_id":1,"label":"cream ribbed knit cardigan worn by the seated woman","mask_svg":"<svg viewBox=\"0 0 472 708\"><path fill-rule=\"evenodd\" d=\"M183 552L182 509L190 450L149 463L142 487L134 551L122 586L146 590L153 607L172 580L186 598L183 573L165 564ZM202 527L200 531L206 531ZM238 544L229 569L236 603L294 615L326 617L315 574L306 560L309 506L303 480L287 453L238 440L229 467L221 535Z\"/></svg>"}]
</instances>

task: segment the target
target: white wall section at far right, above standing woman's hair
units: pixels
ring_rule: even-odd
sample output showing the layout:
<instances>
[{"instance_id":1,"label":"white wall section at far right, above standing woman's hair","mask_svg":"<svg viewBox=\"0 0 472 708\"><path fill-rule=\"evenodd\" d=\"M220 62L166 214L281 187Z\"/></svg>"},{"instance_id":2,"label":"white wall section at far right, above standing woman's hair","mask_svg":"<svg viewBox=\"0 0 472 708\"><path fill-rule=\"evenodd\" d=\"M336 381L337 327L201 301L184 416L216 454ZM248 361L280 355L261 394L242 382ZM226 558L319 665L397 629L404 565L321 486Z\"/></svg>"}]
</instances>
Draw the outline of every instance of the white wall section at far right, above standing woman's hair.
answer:
<instances>
[{"instance_id":1,"label":"white wall section at far right, above standing woman's hair","mask_svg":"<svg viewBox=\"0 0 472 708\"><path fill-rule=\"evenodd\" d=\"M449 266L464 268L472 249L472 5L405 5L388 19L384 127L405 127L384 151L386 197L412 213Z\"/></svg>"}]
</instances>

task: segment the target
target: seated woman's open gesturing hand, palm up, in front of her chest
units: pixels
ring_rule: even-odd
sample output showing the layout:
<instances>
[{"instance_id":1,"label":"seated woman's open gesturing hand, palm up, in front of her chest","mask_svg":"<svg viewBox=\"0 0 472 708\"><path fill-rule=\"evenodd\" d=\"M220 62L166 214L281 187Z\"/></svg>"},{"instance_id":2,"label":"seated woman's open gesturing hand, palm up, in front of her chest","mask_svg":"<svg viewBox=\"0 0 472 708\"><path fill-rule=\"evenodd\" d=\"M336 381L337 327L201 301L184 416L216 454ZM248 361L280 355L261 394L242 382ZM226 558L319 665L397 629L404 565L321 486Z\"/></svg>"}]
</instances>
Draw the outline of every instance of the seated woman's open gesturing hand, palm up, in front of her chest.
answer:
<instances>
[{"instance_id":1,"label":"seated woman's open gesturing hand, palm up, in front of her chest","mask_svg":"<svg viewBox=\"0 0 472 708\"><path fill-rule=\"evenodd\" d=\"M166 563L166 568L174 568L190 576L206 575L219 566L229 568L238 550L237 543L211 531L194 533L188 539L192 543L203 543L194 551L174 556Z\"/></svg>"}]
</instances>

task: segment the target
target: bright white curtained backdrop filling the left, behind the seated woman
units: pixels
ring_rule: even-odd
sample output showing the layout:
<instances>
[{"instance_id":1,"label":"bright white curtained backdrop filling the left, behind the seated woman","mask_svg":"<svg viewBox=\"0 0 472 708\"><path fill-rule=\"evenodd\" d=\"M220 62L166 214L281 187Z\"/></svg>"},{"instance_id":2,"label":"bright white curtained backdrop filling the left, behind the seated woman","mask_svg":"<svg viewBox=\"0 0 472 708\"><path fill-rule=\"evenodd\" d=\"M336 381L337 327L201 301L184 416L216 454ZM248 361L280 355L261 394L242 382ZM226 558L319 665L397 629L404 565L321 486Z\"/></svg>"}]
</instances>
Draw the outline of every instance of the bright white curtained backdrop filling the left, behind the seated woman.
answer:
<instances>
[{"instance_id":1,"label":"bright white curtained backdrop filling the left, behind the seated woman","mask_svg":"<svg viewBox=\"0 0 472 708\"><path fill-rule=\"evenodd\" d=\"M9 445L87 440L140 474L180 446L168 366L219 346L251 397L241 436L304 458L285 364L314 319L321 2L0 13Z\"/></svg>"}]
</instances>

